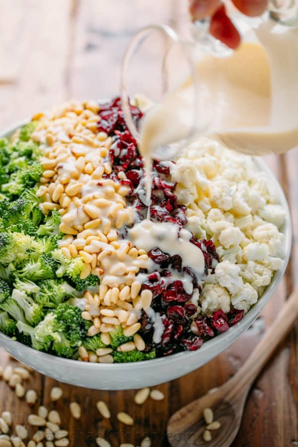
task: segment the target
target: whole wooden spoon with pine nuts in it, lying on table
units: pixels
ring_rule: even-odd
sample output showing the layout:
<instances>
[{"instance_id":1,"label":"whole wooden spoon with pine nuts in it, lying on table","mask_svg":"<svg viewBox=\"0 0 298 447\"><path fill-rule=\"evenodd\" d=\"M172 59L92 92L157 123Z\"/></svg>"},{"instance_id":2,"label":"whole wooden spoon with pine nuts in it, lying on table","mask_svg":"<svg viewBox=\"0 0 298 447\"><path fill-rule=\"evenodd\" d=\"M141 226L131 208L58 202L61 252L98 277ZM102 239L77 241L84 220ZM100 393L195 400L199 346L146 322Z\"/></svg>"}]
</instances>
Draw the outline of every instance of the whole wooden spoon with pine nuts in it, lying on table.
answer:
<instances>
[{"instance_id":1,"label":"whole wooden spoon with pine nuts in it, lying on table","mask_svg":"<svg viewBox=\"0 0 298 447\"><path fill-rule=\"evenodd\" d=\"M215 391L205 394L178 410L169 419L168 440L172 447L228 447L236 437L247 393L256 376L270 359L280 341L288 334L298 317L298 289L283 305L274 323L237 373ZM221 423L211 432L212 440L203 438L206 423L203 410L212 408L214 420Z\"/></svg>"}]
</instances>

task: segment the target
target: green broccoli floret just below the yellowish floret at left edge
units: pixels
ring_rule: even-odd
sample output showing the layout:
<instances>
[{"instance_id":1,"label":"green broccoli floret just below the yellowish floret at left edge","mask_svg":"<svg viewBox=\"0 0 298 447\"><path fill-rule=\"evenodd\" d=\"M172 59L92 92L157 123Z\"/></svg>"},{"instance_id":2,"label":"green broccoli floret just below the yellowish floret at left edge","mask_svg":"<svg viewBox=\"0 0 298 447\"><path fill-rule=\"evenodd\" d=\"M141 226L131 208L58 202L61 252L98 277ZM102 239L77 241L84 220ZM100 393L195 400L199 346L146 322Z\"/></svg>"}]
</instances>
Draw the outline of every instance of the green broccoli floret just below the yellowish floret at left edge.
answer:
<instances>
[{"instance_id":1,"label":"green broccoli floret just below the yellowish floret at left edge","mask_svg":"<svg viewBox=\"0 0 298 447\"><path fill-rule=\"evenodd\" d=\"M22 265L21 269L14 272L14 275L33 282L42 281L55 278L56 269L57 264L54 259L47 254L43 254L36 261L29 259Z\"/></svg>"}]
</instances>

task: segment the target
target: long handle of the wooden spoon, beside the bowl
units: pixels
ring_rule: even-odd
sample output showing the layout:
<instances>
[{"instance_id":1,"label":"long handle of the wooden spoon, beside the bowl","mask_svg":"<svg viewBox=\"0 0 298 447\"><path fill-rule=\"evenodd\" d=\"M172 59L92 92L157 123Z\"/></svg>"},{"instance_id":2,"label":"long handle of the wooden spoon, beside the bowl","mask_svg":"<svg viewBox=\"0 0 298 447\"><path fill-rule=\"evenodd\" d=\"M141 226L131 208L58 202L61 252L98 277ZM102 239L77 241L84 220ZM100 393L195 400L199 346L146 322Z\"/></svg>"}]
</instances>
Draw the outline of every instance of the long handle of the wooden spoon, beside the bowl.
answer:
<instances>
[{"instance_id":1,"label":"long handle of the wooden spoon, beside the bowl","mask_svg":"<svg viewBox=\"0 0 298 447\"><path fill-rule=\"evenodd\" d=\"M290 295L282 306L278 317L265 333L262 340L253 350L240 370L229 380L233 391L243 386L249 388L256 376L270 359L280 341L290 332L298 318L298 288ZM237 388L235 390L235 388Z\"/></svg>"}]
</instances>

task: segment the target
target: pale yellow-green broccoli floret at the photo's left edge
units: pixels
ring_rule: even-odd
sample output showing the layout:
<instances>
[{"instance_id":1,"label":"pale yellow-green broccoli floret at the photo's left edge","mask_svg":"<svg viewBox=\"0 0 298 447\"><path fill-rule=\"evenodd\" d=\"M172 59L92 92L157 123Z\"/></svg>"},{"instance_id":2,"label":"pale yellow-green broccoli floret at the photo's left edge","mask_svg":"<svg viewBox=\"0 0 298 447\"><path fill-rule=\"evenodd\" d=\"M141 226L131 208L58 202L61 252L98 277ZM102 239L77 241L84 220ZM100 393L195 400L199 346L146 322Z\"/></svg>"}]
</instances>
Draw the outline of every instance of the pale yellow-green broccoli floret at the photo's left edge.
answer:
<instances>
[{"instance_id":1,"label":"pale yellow-green broccoli floret at the photo's left edge","mask_svg":"<svg viewBox=\"0 0 298 447\"><path fill-rule=\"evenodd\" d=\"M0 263L21 262L32 248L33 240L24 233L0 233Z\"/></svg>"}]
</instances>

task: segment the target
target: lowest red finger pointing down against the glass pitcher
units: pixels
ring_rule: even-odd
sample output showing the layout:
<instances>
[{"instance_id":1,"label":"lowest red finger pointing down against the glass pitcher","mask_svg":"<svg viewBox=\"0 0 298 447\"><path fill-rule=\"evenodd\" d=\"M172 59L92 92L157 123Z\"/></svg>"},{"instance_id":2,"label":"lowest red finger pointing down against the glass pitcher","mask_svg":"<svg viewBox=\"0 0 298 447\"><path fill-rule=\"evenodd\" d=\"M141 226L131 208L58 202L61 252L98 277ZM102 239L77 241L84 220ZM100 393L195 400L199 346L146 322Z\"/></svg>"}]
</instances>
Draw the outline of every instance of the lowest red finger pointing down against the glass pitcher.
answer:
<instances>
[{"instance_id":1,"label":"lowest red finger pointing down against the glass pitcher","mask_svg":"<svg viewBox=\"0 0 298 447\"><path fill-rule=\"evenodd\" d=\"M211 18L210 34L221 40L233 50L240 44L240 34L230 18L226 15L224 5L222 5Z\"/></svg>"}]
</instances>

